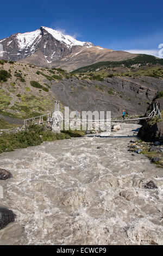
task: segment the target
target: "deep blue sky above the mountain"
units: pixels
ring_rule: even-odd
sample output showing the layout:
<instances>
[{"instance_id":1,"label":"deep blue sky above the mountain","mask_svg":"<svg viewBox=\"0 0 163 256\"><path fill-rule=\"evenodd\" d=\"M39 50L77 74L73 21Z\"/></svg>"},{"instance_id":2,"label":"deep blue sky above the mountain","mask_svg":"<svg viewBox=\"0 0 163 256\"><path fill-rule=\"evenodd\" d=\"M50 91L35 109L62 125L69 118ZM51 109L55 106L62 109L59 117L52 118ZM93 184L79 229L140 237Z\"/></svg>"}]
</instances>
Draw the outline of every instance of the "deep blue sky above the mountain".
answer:
<instances>
[{"instance_id":1,"label":"deep blue sky above the mountain","mask_svg":"<svg viewBox=\"0 0 163 256\"><path fill-rule=\"evenodd\" d=\"M155 1L3 1L0 39L46 26L80 41L113 50L158 55L163 44L163 2Z\"/></svg>"}]
</instances>

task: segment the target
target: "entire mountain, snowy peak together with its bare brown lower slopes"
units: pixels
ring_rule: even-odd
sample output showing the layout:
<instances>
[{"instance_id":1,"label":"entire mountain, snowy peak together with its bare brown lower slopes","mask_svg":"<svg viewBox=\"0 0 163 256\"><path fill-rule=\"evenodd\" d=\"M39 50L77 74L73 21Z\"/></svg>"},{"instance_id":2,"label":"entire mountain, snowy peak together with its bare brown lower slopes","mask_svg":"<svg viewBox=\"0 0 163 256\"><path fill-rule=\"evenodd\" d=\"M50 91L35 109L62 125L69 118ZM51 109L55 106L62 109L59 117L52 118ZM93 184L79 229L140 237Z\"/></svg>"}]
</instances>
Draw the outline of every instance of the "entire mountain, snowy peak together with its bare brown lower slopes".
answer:
<instances>
[{"instance_id":1,"label":"entire mountain, snowy peak together with its bare brown lower slopes","mask_svg":"<svg viewBox=\"0 0 163 256\"><path fill-rule=\"evenodd\" d=\"M62 68L69 71L87 64L106 60L125 60L137 54L113 51L92 42L82 42L52 28L16 33L0 40L0 59L22 61L44 68Z\"/></svg>"}]
</instances>

